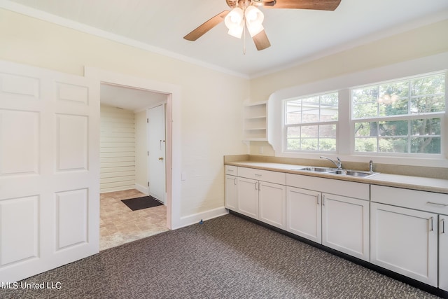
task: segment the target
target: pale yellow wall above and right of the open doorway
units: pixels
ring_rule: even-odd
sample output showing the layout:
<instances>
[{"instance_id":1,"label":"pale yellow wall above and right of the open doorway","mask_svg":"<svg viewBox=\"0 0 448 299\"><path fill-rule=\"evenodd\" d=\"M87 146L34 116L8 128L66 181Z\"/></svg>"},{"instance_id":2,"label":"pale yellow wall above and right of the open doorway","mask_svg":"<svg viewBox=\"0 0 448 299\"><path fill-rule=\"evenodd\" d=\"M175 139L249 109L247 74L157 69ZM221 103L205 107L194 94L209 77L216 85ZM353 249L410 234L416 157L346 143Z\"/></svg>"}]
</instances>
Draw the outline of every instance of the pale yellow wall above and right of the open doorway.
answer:
<instances>
[{"instance_id":1,"label":"pale yellow wall above and right of the open doorway","mask_svg":"<svg viewBox=\"0 0 448 299\"><path fill-rule=\"evenodd\" d=\"M180 86L181 216L224 206L223 155L247 151L241 123L248 80L4 9L0 59L80 76L95 67Z\"/></svg>"}]
</instances>

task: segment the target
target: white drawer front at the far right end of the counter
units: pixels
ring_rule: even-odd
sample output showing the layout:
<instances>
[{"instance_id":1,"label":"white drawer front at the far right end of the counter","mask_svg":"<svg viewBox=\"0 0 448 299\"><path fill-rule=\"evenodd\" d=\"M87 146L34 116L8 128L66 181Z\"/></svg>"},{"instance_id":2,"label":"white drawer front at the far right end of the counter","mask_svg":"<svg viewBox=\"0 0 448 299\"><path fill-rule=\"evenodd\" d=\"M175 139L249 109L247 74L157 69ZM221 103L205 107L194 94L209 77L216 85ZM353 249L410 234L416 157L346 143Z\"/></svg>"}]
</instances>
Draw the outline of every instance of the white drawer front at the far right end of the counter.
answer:
<instances>
[{"instance_id":1,"label":"white drawer front at the far right end of the counter","mask_svg":"<svg viewBox=\"0 0 448 299\"><path fill-rule=\"evenodd\" d=\"M370 186L372 202L448 215L448 194Z\"/></svg>"}]
</instances>

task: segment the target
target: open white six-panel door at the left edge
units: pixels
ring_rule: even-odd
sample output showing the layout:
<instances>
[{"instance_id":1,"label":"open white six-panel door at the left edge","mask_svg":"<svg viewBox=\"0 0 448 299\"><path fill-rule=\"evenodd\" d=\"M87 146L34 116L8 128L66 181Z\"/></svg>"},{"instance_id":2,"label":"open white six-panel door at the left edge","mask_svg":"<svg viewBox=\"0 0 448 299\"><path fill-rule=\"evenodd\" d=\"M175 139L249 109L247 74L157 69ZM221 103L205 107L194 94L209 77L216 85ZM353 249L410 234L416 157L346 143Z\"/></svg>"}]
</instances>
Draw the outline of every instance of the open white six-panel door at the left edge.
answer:
<instances>
[{"instance_id":1,"label":"open white six-panel door at the left edge","mask_svg":"<svg viewBox=\"0 0 448 299\"><path fill-rule=\"evenodd\" d=\"M99 252L99 83L0 61L0 281Z\"/></svg>"}]
</instances>

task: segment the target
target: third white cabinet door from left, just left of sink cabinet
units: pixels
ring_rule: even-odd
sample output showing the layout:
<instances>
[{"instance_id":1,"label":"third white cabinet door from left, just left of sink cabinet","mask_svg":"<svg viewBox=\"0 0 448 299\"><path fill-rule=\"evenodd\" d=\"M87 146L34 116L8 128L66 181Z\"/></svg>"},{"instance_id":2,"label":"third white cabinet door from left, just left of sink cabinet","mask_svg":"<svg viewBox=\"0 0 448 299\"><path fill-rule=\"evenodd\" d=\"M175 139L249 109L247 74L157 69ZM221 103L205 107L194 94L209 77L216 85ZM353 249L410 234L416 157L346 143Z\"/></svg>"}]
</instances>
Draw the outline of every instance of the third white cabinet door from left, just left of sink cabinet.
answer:
<instances>
[{"instance_id":1,"label":"third white cabinet door from left, just left of sink cabinet","mask_svg":"<svg viewBox=\"0 0 448 299\"><path fill-rule=\"evenodd\" d=\"M260 221L284 230L286 228L286 186L258 183Z\"/></svg>"}]
</instances>

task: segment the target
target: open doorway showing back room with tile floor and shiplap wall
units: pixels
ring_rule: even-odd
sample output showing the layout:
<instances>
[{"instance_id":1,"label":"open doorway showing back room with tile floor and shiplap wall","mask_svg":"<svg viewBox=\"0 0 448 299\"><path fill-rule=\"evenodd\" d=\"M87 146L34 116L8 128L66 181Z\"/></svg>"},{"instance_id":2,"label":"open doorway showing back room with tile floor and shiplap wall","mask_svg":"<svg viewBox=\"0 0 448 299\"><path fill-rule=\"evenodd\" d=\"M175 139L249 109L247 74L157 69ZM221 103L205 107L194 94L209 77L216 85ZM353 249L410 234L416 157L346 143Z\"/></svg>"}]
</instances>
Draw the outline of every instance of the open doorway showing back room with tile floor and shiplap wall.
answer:
<instances>
[{"instance_id":1,"label":"open doorway showing back room with tile floor and shiplap wall","mask_svg":"<svg viewBox=\"0 0 448 299\"><path fill-rule=\"evenodd\" d=\"M121 201L154 195L157 190L156 198L165 202L165 106L168 97L162 92L130 86L100 85L100 250L168 230L165 204L132 211ZM154 121L150 126L148 118L148 111L154 111L155 107L163 108L158 108L158 114L153 112L151 116L153 120L162 113L162 123L159 120L157 128L160 132L154 131ZM155 133L160 134L156 136ZM155 153L154 144L158 143L160 151ZM150 158L154 160L154 155L160 159L156 163L150 161ZM151 177L158 177L155 184L160 186L151 183L150 188Z\"/></svg>"}]
</instances>

